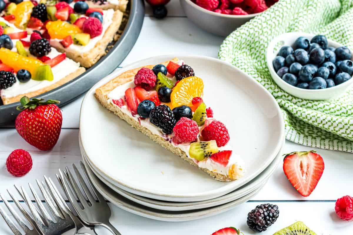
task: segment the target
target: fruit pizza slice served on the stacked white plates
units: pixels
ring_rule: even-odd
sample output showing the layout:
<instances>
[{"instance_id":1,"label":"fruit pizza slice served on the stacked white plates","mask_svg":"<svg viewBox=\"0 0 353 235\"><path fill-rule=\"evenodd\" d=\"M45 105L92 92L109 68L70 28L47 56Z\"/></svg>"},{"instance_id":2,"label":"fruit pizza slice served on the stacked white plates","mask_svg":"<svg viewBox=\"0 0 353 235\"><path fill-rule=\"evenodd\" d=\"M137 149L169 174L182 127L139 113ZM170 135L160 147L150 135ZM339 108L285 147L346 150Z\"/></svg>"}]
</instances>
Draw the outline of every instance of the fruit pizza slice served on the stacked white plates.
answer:
<instances>
[{"instance_id":1,"label":"fruit pizza slice served on the stacked white plates","mask_svg":"<svg viewBox=\"0 0 353 235\"><path fill-rule=\"evenodd\" d=\"M203 101L203 80L183 61L128 70L96 89L100 103L152 140L220 181L244 175L226 126Z\"/></svg>"}]
</instances>

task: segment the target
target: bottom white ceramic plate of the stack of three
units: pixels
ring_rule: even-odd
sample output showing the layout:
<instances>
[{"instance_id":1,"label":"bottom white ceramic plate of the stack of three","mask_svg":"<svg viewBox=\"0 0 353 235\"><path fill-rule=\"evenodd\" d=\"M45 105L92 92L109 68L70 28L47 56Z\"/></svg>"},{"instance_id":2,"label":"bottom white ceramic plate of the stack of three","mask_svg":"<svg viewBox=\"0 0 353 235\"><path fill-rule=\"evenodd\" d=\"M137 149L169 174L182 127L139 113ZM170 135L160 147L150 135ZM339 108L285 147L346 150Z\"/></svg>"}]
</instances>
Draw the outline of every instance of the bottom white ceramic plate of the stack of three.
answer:
<instances>
[{"instance_id":1,"label":"bottom white ceramic plate of the stack of three","mask_svg":"<svg viewBox=\"0 0 353 235\"><path fill-rule=\"evenodd\" d=\"M240 205L244 202L247 202L252 197L254 197L260 190L257 188L256 190L246 194L244 197L236 199L232 202L228 202L223 205L214 206L207 209L199 209L199 210L188 210L188 211L163 211L156 210L152 208L148 208L146 206L140 205L138 203L132 202L120 194L116 193L114 190L105 185L100 179L96 177L96 175L92 172L91 168L87 166L87 163L84 162L89 178L92 181L92 184L95 188L100 192L104 198L109 200L109 202L118 206L119 208L131 212L133 214L143 216L150 219L156 219L161 221L170 221L170 222L180 222L180 221L190 221L194 219L201 219L209 216L218 215L222 212L230 210L237 205Z\"/></svg>"}]
</instances>

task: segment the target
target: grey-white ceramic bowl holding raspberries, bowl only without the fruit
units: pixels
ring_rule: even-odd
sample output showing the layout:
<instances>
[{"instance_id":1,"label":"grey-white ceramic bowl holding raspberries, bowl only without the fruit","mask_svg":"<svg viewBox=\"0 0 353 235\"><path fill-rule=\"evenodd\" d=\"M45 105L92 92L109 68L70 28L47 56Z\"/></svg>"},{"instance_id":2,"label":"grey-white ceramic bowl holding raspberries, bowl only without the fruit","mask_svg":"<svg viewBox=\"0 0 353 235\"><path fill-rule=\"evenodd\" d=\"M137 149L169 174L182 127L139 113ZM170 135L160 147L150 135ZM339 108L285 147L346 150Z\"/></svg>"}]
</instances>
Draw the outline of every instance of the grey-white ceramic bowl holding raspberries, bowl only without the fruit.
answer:
<instances>
[{"instance_id":1,"label":"grey-white ceramic bowl holding raspberries, bowl only without the fruit","mask_svg":"<svg viewBox=\"0 0 353 235\"><path fill-rule=\"evenodd\" d=\"M191 0L180 0L187 18L199 26L201 29L220 36L228 36L235 29L245 24L247 21L258 16L260 13L245 16L220 14L208 11Z\"/></svg>"}]
</instances>

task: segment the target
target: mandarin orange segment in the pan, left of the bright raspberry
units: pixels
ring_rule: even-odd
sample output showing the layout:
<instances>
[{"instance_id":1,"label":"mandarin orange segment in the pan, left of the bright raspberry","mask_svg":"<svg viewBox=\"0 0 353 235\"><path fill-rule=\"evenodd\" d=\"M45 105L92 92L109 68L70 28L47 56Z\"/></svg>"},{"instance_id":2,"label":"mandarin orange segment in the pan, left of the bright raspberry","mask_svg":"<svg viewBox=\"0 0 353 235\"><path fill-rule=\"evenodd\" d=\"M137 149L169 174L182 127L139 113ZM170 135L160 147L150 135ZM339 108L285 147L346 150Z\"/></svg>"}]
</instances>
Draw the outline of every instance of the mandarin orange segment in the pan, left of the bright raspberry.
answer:
<instances>
[{"instance_id":1,"label":"mandarin orange segment in the pan, left of the bright raspberry","mask_svg":"<svg viewBox=\"0 0 353 235\"><path fill-rule=\"evenodd\" d=\"M82 33L77 25L70 24L66 21L56 20L49 21L46 25L50 38L64 39L69 35Z\"/></svg>"}]
</instances>

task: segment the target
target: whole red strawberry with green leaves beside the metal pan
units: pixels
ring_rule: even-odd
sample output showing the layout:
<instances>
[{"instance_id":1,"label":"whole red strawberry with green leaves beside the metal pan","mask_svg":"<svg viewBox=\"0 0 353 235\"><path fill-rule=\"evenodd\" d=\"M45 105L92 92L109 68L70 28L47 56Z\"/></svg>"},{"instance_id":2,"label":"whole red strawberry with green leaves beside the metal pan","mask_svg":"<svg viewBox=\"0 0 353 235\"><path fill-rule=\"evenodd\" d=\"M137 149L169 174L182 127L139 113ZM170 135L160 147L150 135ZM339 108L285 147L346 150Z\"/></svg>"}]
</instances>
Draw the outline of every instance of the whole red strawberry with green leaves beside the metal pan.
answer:
<instances>
[{"instance_id":1,"label":"whole red strawberry with green leaves beside the metal pan","mask_svg":"<svg viewBox=\"0 0 353 235\"><path fill-rule=\"evenodd\" d=\"M17 110L22 110L22 112L15 121L18 134L40 150L52 149L58 142L61 131L61 110L55 105L60 102L36 98L29 100L24 96L20 103Z\"/></svg>"}]
</instances>

